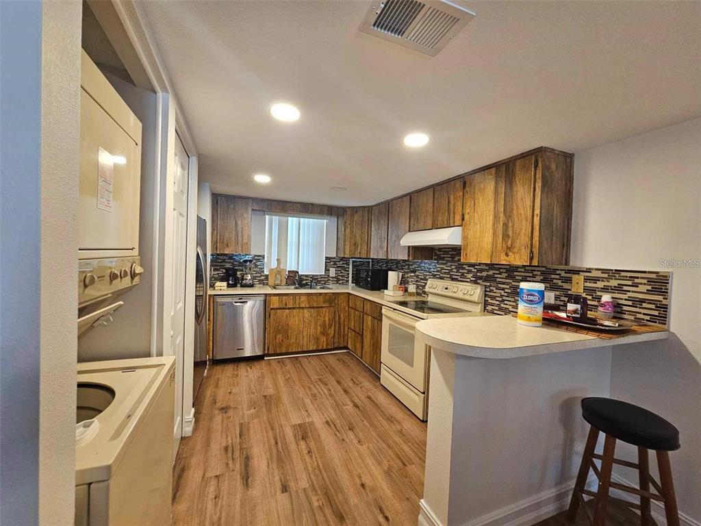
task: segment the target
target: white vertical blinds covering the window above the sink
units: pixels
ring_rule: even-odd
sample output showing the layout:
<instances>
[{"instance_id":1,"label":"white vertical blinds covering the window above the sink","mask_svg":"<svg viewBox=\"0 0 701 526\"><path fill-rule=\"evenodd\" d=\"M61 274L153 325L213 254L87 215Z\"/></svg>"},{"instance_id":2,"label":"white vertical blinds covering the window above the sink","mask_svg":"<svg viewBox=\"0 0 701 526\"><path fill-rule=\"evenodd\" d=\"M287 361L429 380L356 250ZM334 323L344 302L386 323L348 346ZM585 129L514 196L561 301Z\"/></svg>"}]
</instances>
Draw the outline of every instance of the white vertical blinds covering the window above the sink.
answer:
<instances>
[{"instance_id":1,"label":"white vertical blinds covering the window above the sink","mask_svg":"<svg viewBox=\"0 0 701 526\"><path fill-rule=\"evenodd\" d=\"M324 274L326 256L325 217L266 215L265 271L275 267L299 274Z\"/></svg>"}]
</instances>

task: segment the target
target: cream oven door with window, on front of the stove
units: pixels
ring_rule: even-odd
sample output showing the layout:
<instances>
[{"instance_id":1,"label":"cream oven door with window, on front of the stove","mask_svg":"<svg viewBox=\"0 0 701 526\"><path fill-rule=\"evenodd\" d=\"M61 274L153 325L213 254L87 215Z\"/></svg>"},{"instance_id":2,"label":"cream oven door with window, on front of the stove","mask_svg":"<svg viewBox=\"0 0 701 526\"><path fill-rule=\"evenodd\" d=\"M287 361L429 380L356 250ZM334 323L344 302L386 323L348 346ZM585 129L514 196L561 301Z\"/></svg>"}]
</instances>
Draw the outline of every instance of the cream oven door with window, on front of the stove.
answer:
<instances>
[{"instance_id":1,"label":"cream oven door with window, on front of the stove","mask_svg":"<svg viewBox=\"0 0 701 526\"><path fill-rule=\"evenodd\" d=\"M414 326L420 318L382 309L382 358L385 367L421 393L428 384L428 346L414 337Z\"/></svg>"}]
</instances>

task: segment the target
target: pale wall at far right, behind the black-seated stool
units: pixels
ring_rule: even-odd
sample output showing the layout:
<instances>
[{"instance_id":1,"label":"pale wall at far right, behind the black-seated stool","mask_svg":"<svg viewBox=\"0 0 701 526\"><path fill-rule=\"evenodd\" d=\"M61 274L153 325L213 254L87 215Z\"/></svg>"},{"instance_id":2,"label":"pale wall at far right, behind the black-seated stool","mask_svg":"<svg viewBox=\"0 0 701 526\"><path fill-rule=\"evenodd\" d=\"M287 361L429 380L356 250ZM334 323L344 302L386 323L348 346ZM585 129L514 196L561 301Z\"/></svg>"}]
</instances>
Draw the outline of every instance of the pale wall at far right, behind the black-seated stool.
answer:
<instances>
[{"instance_id":1,"label":"pale wall at far right, behind the black-seated stool","mask_svg":"<svg viewBox=\"0 0 701 526\"><path fill-rule=\"evenodd\" d=\"M669 269L661 261L701 259L700 199L701 119L576 152L571 264L673 272L672 338L616 347L611 396L648 407L679 428L681 450L671 454L676 496L681 513L697 521L701 269Z\"/></svg>"}]
</instances>

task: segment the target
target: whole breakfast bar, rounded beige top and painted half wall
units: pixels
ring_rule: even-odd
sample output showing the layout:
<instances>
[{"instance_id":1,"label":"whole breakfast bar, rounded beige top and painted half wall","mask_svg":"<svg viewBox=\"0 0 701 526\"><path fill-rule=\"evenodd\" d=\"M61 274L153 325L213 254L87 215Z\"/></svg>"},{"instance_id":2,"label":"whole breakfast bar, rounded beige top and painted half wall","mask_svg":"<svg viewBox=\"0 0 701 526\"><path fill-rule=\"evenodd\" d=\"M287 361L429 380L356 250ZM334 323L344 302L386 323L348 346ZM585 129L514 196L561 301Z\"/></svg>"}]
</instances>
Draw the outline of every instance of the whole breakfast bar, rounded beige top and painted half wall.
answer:
<instances>
[{"instance_id":1,"label":"whole breakfast bar, rounded beige top and painted half wall","mask_svg":"<svg viewBox=\"0 0 701 526\"><path fill-rule=\"evenodd\" d=\"M668 337L587 332L512 316L416 324L432 348L419 525L529 525L566 508L587 435L580 400L610 395L611 347Z\"/></svg>"}]
</instances>

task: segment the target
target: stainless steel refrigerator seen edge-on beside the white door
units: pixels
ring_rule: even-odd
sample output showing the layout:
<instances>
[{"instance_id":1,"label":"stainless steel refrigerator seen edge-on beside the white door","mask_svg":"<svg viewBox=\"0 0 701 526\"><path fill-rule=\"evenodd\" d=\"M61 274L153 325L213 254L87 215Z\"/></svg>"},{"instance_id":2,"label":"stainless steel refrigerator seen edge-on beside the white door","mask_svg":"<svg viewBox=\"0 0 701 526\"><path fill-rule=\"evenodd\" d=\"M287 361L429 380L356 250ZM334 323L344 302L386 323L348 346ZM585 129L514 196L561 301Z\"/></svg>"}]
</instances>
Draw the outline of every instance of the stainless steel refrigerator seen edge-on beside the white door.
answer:
<instances>
[{"instance_id":1,"label":"stainless steel refrigerator seen edge-on beside the white door","mask_svg":"<svg viewBox=\"0 0 701 526\"><path fill-rule=\"evenodd\" d=\"M195 264L195 350L193 353L192 400L197 398L202 379L207 370L207 290L209 289L209 265L207 264L207 221L197 216L197 262Z\"/></svg>"}]
</instances>

